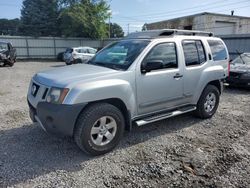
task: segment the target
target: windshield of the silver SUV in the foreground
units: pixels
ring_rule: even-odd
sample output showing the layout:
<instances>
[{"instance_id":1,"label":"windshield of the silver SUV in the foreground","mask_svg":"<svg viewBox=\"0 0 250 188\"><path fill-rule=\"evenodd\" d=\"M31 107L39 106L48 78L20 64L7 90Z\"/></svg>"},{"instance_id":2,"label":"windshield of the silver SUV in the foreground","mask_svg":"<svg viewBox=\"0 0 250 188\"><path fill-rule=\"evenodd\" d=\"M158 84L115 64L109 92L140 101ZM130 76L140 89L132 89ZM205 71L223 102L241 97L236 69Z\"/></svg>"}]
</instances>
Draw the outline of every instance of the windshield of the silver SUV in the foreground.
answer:
<instances>
[{"instance_id":1,"label":"windshield of the silver SUV in the foreground","mask_svg":"<svg viewBox=\"0 0 250 188\"><path fill-rule=\"evenodd\" d=\"M127 70L149 42L149 40L115 42L98 53L88 63L112 69Z\"/></svg>"}]
</instances>

